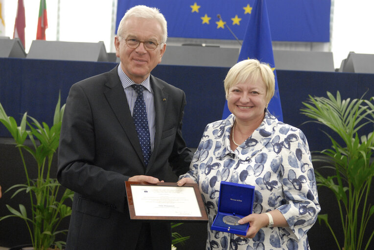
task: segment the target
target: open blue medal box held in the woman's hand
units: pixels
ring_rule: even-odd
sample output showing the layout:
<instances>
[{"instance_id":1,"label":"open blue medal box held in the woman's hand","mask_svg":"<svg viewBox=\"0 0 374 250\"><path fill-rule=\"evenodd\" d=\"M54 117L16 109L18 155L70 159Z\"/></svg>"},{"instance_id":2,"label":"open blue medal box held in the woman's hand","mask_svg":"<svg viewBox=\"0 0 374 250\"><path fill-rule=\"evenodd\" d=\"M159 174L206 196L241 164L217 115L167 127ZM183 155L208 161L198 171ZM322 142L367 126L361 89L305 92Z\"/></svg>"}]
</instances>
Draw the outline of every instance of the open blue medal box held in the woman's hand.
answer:
<instances>
[{"instance_id":1,"label":"open blue medal box held in the woman's hand","mask_svg":"<svg viewBox=\"0 0 374 250\"><path fill-rule=\"evenodd\" d=\"M243 218L251 214L254 196L254 186L221 182L218 198L218 212L210 229L246 235L249 223L243 225L228 225L223 221L223 217L234 215Z\"/></svg>"}]
</instances>

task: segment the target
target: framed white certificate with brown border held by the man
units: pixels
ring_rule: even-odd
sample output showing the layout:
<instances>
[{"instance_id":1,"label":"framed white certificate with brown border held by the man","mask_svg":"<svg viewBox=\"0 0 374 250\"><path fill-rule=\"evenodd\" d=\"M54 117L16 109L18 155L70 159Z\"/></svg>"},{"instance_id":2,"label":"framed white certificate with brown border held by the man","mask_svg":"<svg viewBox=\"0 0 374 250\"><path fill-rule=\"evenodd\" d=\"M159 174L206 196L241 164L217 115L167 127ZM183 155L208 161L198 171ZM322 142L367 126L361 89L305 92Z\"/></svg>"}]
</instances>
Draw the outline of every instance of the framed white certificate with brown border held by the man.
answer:
<instances>
[{"instance_id":1,"label":"framed white certificate with brown border held by the man","mask_svg":"<svg viewBox=\"0 0 374 250\"><path fill-rule=\"evenodd\" d=\"M208 222L196 183L179 187L176 183L125 182L132 220Z\"/></svg>"}]
</instances>

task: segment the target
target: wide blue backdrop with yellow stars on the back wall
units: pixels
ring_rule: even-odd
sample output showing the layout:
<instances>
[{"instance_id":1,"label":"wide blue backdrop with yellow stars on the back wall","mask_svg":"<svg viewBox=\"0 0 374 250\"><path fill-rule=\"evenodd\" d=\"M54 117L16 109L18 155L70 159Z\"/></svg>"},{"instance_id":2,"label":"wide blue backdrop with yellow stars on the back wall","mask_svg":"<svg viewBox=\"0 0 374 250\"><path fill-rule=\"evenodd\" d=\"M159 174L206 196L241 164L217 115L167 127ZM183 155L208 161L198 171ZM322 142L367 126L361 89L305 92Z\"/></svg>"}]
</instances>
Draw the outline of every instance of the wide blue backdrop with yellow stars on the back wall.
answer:
<instances>
[{"instance_id":1,"label":"wide blue backdrop with yellow stars on the back wall","mask_svg":"<svg viewBox=\"0 0 374 250\"><path fill-rule=\"evenodd\" d=\"M164 14L169 37L233 40L226 22L243 40L254 1L118 0L116 31L126 10L143 4ZM329 42L331 0L266 0L266 4L273 41Z\"/></svg>"}]
</instances>

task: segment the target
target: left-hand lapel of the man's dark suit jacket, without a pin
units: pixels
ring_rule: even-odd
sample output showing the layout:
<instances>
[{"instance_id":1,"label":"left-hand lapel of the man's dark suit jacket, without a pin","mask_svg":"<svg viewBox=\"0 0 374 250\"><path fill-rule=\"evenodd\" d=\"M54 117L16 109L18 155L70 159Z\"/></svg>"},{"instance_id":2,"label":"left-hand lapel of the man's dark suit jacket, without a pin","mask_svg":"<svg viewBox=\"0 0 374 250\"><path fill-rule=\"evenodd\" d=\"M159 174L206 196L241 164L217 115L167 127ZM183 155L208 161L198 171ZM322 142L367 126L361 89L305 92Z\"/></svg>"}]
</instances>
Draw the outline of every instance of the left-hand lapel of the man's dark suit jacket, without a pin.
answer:
<instances>
[{"instance_id":1,"label":"left-hand lapel of the man's dark suit jacket, without a pin","mask_svg":"<svg viewBox=\"0 0 374 250\"><path fill-rule=\"evenodd\" d=\"M108 78L108 82L105 84L108 89L104 91L104 95L113 112L116 114L118 122L125 131L130 143L140 159L143 159L133 117L131 116L129 104L127 103L126 94L118 77L117 67L110 71Z\"/></svg>"}]
</instances>

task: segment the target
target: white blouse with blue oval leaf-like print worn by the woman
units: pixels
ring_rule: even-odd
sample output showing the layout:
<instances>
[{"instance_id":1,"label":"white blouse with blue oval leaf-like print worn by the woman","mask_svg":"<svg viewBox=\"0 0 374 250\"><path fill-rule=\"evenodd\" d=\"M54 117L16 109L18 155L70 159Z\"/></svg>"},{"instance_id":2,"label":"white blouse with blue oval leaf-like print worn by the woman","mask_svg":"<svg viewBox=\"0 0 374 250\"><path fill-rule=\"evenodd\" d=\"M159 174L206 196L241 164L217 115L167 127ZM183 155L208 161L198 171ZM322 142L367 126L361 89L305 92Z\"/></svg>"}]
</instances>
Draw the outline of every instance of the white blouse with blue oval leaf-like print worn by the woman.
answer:
<instances>
[{"instance_id":1,"label":"white blouse with blue oval leaf-like print worn by the woman","mask_svg":"<svg viewBox=\"0 0 374 250\"><path fill-rule=\"evenodd\" d=\"M208 211L207 250L307 250L306 232L320 211L311 155L304 133L267 110L261 125L234 151L234 115L208 124L190 170ZM210 230L221 181L255 186L254 213L280 210L289 227L262 228L253 239Z\"/></svg>"}]
</instances>

